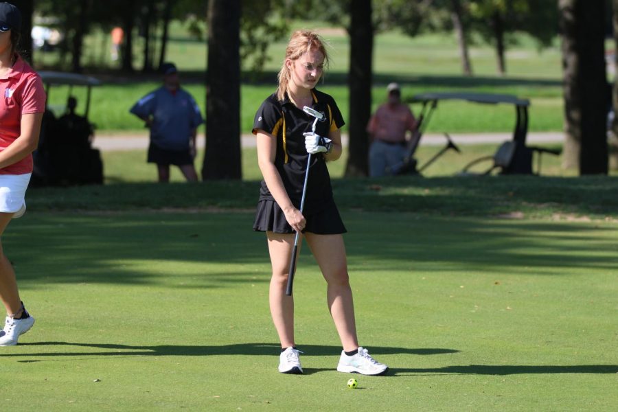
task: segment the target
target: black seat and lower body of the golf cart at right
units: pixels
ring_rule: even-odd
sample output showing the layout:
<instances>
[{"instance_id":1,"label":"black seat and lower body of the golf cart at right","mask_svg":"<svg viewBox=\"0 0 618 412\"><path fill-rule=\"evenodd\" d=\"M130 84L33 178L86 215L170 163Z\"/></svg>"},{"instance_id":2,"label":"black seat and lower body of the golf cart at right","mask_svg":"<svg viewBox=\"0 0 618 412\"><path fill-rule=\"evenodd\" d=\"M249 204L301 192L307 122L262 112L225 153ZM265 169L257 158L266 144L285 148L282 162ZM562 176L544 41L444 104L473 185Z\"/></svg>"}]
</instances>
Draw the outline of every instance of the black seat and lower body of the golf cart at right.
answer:
<instances>
[{"instance_id":1,"label":"black seat and lower body of the golf cart at right","mask_svg":"<svg viewBox=\"0 0 618 412\"><path fill-rule=\"evenodd\" d=\"M551 155L560 155L562 150L539 148L536 146L525 146L518 141L509 140L503 142L492 156L479 157L468 163L458 176L485 176L491 174L494 170L500 169L500 174L534 174L532 172L532 156L537 152L537 174L540 174L541 157L543 153ZM470 172L472 166L479 163L493 161L490 168L483 172Z\"/></svg>"}]
</instances>

